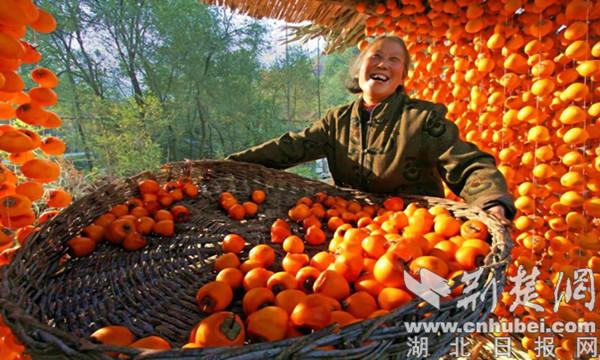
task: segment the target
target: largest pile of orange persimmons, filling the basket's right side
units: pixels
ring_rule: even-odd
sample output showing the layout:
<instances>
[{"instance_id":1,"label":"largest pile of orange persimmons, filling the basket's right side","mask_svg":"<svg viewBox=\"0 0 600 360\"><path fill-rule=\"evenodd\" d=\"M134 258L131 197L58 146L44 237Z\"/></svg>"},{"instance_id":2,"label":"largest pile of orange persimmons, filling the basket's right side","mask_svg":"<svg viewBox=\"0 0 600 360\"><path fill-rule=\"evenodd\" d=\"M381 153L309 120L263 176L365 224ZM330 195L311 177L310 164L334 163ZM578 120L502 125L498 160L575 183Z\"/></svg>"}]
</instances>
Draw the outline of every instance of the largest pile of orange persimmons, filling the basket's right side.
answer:
<instances>
[{"instance_id":1,"label":"largest pile of orange persimmons, filling the basket's right side","mask_svg":"<svg viewBox=\"0 0 600 360\"><path fill-rule=\"evenodd\" d=\"M221 206L234 206L232 198L222 193ZM302 197L288 219L271 225L270 243L223 238L215 280L196 294L198 309L209 316L184 347L277 341L380 316L414 298L405 269L417 279L428 269L454 280L482 264L488 237L483 222L463 222L443 206L405 208L399 197L383 207L324 193Z\"/></svg>"}]
</instances>

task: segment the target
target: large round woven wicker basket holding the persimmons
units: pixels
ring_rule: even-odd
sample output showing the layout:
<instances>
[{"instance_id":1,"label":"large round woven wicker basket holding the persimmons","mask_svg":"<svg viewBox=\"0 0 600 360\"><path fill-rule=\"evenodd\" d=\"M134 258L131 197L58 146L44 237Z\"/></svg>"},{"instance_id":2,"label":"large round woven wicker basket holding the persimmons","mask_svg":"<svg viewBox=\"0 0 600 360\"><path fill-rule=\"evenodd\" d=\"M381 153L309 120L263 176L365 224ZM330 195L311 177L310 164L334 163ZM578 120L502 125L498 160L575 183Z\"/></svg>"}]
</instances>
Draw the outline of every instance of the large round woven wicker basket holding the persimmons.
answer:
<instances>
[{"instance_id":1,"label":"large round woven wicker basket holding the persimmons","mask_svg":"<svg viewBox=\"0 0 600 360\"><path fill-rule=\"evenodd\" d=\"M135 252L101 244L91 255L64 260L66 241L79 234L110 207L137 193L143 178L159 181L191 176L201 188L195 199L183 204L191 220L177 224L173 238L149 237L148 246ZM232 221L219 208L222 191L246 198L254 189L264 189L267 201L259 216L247 221ZM383 317L365 320L343 329L333 326L303 337L270 343L255 343L239 348L176 349L187 342L192 327L202 315L194 302L197 289L212 281L212 261L220 254L220 240L228 233L243 235L251 244L269 243L270 225L301 196L318 191L360 199L381 198L339 189L287 172L259 165L231 161L187 161L172 163L158 174L143 173L116 181L74 202L60 215L44 224L17 253L14 261L0 270L0 311L6 323L34 358L64 359L108 358L107 351L118 351L139 358L214 358L265 359L381 357L406 358L407 334L404 321L479 321L486 318L492 298L479 301L475 311L458 309L460 298L443 302L438 311L432 306L417 306L419 301ZM477 218L492 234L492 252L486 258L477 290L491 282L502 291L512 242L505 228L481 209L431 197L405 197L424 206L443 205L455 216ZM300 233L296 228L295 233ZM310 253L324 246L308 248ZM281 249L278 256L282 255ZM240 306L240 304L234 304ZM158 335L168 339L176 350L164 352L111 347L93 342L89 335L106 325L125 325L137 337ZM429 355L438 358L448 352L450 342L466 334L417 334L429 338ZM332 345L335 350L318 347Z\"/></svg>"}]
</instances>

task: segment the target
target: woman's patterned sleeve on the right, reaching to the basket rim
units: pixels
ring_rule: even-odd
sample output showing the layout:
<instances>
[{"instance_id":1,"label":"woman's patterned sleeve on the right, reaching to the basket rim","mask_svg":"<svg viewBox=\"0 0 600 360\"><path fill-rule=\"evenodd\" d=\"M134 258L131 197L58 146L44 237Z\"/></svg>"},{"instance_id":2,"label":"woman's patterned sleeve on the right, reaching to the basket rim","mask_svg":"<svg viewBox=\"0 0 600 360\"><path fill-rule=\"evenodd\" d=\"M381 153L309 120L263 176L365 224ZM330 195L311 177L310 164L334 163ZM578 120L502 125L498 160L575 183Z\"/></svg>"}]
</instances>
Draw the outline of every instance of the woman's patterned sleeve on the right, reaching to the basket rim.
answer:
<instances>
[{"instance_id":1,"label":"woman's patterned sleeve on the right, reaching to the basket rim","mask_svg":"<svg viewBox=\"0 0 600 360\"><path fill-rule=\"evenodd\" d=\"M460 139L456 124L445 118L446 108L435 105L424 124L424 136L437 158L444 182L467 203L488 209L502 205L506 217L516 213L514 199L492 155Z\"/></svg>"}]
</instances>

